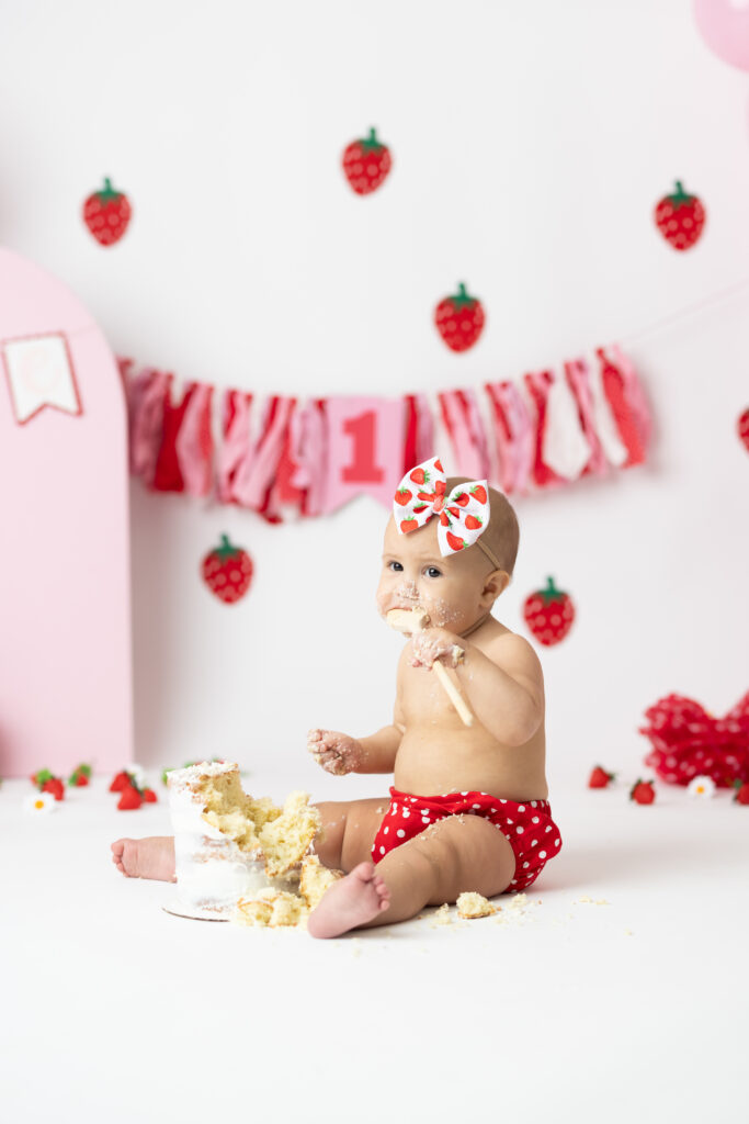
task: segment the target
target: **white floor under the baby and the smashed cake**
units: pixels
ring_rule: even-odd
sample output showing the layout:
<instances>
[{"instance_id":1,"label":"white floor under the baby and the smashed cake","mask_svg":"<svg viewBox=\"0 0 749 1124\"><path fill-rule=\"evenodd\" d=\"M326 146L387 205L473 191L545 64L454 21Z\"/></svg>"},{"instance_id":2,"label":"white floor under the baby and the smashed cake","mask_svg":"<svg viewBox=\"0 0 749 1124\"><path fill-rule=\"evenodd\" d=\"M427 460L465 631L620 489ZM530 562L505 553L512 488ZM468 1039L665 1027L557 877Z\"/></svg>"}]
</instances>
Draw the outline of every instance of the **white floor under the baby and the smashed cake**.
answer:
<instances>
[{"instance_id":1,"label":"white floor under the baby and the smashed cake","mask_svg":"<svg viewBox=\"0 0 749 1124\"><path fill-rule=\"evenodd\" d=\"M0 789L9 1124L747 1120L749 807L725 794L557 791L524 915L316 942L170 916L173 888L119 876L109 842L166 833L164 803L118 813L97 781L33 816L30 791Z\"/></svg>"}]
</instances>

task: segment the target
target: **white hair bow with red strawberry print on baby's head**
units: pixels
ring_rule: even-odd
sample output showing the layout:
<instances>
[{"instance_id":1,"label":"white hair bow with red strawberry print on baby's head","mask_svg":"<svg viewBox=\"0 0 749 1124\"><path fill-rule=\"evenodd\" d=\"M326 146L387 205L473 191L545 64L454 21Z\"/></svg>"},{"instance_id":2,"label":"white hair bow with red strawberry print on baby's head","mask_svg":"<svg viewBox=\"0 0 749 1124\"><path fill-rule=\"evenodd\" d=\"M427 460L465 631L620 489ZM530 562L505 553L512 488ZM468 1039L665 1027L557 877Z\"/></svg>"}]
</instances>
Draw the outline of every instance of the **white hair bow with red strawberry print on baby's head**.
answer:
<instances>
[{"instance_id":1,"label":"white hair bow with red strawberry print on baby's head","mask_svg":"<svg viewBox=\"0 0 749 1124\"><path fill-rule=\"evenodd\" d=\"M488 524L486 480L458 484L449 496L445 470L435 456L407 472L395 492L393 516L402 535L423 527L432 515L439 516L437 541L440 554L455 554L471 546Z\"/></svg>"}]
</instances>

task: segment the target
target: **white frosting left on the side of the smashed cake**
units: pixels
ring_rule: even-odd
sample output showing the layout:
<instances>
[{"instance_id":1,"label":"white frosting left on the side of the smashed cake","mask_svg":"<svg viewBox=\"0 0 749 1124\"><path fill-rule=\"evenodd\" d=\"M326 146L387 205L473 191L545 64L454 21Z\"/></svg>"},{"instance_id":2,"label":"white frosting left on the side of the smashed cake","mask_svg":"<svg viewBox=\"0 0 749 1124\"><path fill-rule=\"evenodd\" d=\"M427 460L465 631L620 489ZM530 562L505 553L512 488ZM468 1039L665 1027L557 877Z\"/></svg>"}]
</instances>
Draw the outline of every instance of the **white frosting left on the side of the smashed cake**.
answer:
<instances>
[{"instance_id":1,"label":"white frosting left on the side of the smashed cake","mask_svg":"<svg viewBox=\"0 0 749 1124\"><path fill-rule=\"evenodd\" d=\"M201 777L236 770L236 764L205 763L168 776L177 897L190 909L229 913L240 897L271 885L262 854L241 851L209 824L202 796L192 787Z\"/></svg>"}]
</instances>

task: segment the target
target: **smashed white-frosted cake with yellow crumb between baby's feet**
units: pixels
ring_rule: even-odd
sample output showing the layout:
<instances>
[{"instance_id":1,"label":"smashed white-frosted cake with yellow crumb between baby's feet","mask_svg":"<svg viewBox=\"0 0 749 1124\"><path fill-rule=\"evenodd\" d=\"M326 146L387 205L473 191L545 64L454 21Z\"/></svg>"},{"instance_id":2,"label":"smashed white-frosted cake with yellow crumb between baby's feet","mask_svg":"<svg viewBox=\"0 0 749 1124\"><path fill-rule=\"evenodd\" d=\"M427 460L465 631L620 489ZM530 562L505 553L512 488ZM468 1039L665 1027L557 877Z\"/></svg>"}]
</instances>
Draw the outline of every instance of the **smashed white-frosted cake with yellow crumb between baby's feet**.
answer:
<instances>
[{"instance_id":1,"label":"smashed white-frosted cake with yellow crumb between baby's feet","mask_svg":"<svg viewBox=\"0 0 749 1124\"><path fill-rule=\"evenodd\" d=\"M245 924L296 924L280 918L307 913L285 899L296 897L300 864L313 859L312 840L320 828L320 813L309 806L307 792L292 792L283 808L271 799L254 799L241 787L239 767L202 762L167 774L170 813L174 830L179 905L194 917L228 919L238 903L263 901L257 921ZM325 874L318 877L327 881ZM312 874L307 876L312 885ZM326 886L327 888L327 886ZM278 899L274 916L274 903ZM282 903L284 903L282 905Z\"/></svg>"}]
</instances>

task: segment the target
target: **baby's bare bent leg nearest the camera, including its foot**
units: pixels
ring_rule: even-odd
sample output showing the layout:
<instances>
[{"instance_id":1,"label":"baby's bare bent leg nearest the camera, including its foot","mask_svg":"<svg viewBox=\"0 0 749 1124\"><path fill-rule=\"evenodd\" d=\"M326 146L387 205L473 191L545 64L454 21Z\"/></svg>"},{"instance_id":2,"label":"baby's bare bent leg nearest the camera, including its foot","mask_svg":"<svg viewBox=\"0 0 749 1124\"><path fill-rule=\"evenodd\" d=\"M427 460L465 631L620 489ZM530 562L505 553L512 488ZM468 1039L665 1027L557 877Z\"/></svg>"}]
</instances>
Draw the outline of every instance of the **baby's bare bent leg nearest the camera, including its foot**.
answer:
<instances>
[{"instance_id":1,"label":"baby's bare bent leg nearest the camera, including its foot","mask_svg":"<svg viewBox=\"0 0 749 1124\"><path fill-rule=\"evenodd\" d=\"M426 905L455 901L464 890L493 897L508 888L514 870L512 847L493 824L479 816L447 816L390 851L376 868L360 863L331 886L310 914L308 930L312 936L339 936L407 921Z\"/></svg>"}]
</instances>

